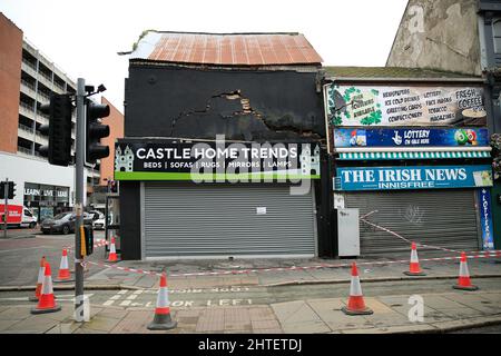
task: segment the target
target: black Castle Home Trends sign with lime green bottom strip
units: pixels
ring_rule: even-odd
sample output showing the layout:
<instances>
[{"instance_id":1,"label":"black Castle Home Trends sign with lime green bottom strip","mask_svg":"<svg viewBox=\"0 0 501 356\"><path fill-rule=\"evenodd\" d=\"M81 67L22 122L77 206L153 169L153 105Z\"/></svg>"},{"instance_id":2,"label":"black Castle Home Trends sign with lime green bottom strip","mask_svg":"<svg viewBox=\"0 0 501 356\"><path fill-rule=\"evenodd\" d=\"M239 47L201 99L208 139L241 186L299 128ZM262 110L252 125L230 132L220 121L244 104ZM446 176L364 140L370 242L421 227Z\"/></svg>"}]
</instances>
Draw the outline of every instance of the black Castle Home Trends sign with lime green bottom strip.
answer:
<instances>
[{"instance_id":1,"label":"black Castle Home Trends sign with lime green bottom strip","mask_svg":"<svg viewBox=\"0 0 501 356\"><path fill-rule=\"evenodd\" d=\"M116 180L294 182L320 178L318 144L121 141Z\"/></svg>"}]
</instances>

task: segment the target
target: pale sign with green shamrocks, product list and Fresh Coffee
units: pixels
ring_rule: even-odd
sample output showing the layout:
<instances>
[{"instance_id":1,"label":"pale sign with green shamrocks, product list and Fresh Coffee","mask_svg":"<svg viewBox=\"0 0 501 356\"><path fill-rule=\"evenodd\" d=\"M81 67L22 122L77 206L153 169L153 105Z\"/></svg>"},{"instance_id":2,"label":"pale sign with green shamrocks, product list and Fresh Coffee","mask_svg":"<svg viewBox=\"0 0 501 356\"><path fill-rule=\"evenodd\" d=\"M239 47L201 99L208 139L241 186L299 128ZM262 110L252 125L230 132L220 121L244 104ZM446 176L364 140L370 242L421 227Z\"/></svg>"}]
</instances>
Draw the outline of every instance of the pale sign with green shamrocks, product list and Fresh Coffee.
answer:
<instances>
[{"instance_id":1,"label":"pale sign with green shamrocks, product list and Fresh Coffee","mask_svg":"<svg viewBox=\"0 0 501 356\"><path fill-rule=\"evenodd\" d=\"M334 126L485 126L480 87L325 87Z\"/></svg>"}]
</instances>

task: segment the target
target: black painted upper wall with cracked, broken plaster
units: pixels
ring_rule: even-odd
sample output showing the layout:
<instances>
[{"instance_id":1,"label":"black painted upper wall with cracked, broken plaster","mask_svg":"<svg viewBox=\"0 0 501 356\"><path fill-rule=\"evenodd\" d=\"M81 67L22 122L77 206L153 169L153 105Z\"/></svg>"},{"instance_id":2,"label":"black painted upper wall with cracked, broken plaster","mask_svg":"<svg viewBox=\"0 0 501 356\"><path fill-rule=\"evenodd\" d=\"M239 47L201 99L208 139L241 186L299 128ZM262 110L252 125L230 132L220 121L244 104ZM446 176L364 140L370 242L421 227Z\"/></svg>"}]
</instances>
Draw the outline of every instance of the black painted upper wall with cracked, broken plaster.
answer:
<instances>
[{"instance_id":1,"label":"black painted upper wall with cracked, broken plaster","mask_svg":"<svg viewBox=\"0 0 501 356\"><path fill-rule=\"evenodd\" d=\"M316 72L131 63L126 137L317 140L325 137Z\"/></svg>"}]
</instances>

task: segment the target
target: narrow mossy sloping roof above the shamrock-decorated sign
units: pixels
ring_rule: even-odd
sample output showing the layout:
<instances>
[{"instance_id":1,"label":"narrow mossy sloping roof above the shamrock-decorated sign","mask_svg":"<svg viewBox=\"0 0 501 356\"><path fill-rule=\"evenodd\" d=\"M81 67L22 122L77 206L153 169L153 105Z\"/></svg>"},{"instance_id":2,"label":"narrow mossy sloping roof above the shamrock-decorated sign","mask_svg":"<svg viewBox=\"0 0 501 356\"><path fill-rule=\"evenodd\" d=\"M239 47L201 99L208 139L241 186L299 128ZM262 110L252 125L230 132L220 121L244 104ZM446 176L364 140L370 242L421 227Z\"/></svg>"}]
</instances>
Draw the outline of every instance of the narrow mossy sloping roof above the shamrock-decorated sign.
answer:
<instances>
[{"instance_id":1,"label":"narrow mossy sloping roof above the shamrock-decorated sign","mask_svg":"<svg viewBox=\"0 0 501 356\"><path fill-rule=\"evenodd\" d=\"M323 67L327 78L407 78L407 79L440 79L440 78L480 78L451 71L425 68L406 67Z\"/></svg>"}]
</instances>

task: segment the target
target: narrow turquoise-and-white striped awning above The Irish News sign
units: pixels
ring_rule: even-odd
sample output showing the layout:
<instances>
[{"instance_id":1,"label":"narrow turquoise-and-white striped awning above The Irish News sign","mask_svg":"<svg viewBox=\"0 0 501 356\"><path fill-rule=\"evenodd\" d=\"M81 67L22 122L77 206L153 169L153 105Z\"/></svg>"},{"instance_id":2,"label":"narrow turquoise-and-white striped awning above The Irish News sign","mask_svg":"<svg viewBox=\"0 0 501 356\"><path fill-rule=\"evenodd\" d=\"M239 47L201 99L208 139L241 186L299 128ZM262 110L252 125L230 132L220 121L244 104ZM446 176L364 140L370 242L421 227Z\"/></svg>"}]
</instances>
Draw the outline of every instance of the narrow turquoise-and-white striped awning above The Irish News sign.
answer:
<instances>
[{"instance_id":1,"label":"narrow turquoise-and-white striped awning above The Irish News sign","mask_svg":"<svg viewBox=\"0 0 501 356\"><path fill-rule=\"evenodd\" d=\"M489 151L340 152L341 160L489 158Z\"/></svg>"}]
</instances>

